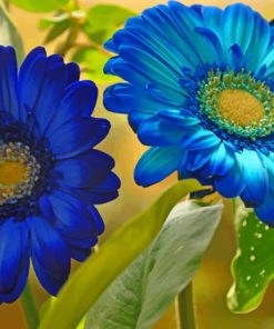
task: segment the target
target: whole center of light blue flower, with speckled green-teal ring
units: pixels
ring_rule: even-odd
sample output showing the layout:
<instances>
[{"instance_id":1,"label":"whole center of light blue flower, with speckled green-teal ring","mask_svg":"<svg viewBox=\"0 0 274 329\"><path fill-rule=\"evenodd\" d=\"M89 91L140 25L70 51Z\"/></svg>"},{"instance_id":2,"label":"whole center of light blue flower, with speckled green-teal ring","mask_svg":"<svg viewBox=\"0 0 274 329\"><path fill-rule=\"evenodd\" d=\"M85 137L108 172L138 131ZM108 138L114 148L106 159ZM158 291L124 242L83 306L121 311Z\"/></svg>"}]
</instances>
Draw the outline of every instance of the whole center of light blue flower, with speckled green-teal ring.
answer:
<instances>
[{"instance_id":1,"label":"whole center of light blue flower, with speckled green-teal ring","mask_svg":"<svg viewBox=\"0 0 274 329\"><path fill-rule=\"evenodd\" d=\"M244 69L210 71L196 98L202 113L231 134L255 140L274 131L274 94Z\"/></svg>"}]
</instances>

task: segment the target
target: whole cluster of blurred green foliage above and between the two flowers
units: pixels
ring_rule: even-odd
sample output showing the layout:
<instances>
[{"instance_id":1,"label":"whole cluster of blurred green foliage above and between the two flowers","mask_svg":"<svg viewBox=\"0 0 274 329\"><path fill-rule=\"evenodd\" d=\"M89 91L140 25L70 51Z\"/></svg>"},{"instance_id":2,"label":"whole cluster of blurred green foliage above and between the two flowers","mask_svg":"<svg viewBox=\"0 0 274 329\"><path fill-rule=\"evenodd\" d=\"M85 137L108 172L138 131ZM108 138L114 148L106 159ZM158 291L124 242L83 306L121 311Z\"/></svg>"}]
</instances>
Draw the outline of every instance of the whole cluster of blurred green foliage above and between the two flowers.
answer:
<instances>
[{"instance_id":1,"label":"whole cluster of blurred green foliage above and between the two flowers","mask_svg":"<svg viewBox=\"0 0 274 329\"><path fill-rule=\"evenodd\" d=\"M55 52L65 56L71 51L72 61L81 66L81 71L88 79L97 82L112 82L118 78L103 73L104 64L111 57L103 48L103 43L132 16L134 12L119 6L99 4L88 11L74 6L69 12L58 11L50 19L41 19L40 29L49 30L45 43L68 31L67 38L60 40ZM85 39L79 38L83 34ZM82 40L88 42L83 43Z\"/></svg>"}]
</instances>

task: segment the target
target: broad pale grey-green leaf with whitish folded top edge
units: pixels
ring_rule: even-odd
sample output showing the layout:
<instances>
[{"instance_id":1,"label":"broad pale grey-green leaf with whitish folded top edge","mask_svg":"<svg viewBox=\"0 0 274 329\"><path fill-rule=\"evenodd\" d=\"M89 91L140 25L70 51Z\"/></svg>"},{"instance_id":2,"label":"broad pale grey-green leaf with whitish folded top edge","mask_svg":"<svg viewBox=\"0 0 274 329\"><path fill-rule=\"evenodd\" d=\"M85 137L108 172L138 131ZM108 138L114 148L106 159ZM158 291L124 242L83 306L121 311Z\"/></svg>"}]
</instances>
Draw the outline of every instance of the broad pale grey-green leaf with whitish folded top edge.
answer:
<instances>
[{"instance_id":1,"label":"broad pale grey-green leaf with whitish folded top edge","mask_svg":"<svg viewBox=\"0 0 274 329\"><path fill-rule=\"evenodd\" d=\"M192 280L223 205L177 205L156 239L102 293L85 329L150 329Z\"/></svg>"}]
</instances>

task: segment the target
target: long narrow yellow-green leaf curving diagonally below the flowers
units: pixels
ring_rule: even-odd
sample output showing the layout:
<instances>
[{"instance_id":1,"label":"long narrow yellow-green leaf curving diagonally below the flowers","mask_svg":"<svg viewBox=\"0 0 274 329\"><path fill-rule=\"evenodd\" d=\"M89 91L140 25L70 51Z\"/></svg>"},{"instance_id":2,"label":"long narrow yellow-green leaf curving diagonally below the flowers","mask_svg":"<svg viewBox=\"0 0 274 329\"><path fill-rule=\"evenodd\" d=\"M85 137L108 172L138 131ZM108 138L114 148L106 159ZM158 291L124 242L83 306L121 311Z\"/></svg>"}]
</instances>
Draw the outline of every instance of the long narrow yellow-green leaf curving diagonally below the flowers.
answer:
<instances>
[{"instance_id":1,"label":"long narrow yellow-green leaf curving diagonally below the flowers","mask_svg":"<svg viewBox=\"0 0 274 329\"><path fill-rule=\"evenodd\" d=\"M71 276L41 319L40 329L74 329L104 289L156 237L174 205L199 189L203 187L195 180L180 181L118 229L100 251Z\"/></svg>"}]
</instances>

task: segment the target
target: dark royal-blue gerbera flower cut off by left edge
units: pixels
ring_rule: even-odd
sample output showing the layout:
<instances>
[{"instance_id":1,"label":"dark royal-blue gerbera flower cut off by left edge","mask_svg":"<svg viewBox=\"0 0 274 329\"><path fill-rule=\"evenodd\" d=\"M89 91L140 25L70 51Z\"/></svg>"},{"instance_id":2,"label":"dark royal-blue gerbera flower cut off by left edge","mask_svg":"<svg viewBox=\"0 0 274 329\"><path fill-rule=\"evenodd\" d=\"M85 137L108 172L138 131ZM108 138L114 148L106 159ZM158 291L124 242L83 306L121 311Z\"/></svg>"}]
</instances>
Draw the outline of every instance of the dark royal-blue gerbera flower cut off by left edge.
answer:
<instances>
[{"instance_id":1,"label":"dark royal-blue gerbera flower cut off by left edge","mask_svg":"<svg viewBox=\"0 0 274 329\"><path fill-rule=\"evenodd\" d=\"M0 302L24 288L30 259L55 295L71 258L84 260L103 221L93 205L118 196L113 159L93 147L110 123L91 118L98 90L79 67L32 50L19 74L0 47Z\"/></svg>"}]
</instances>

